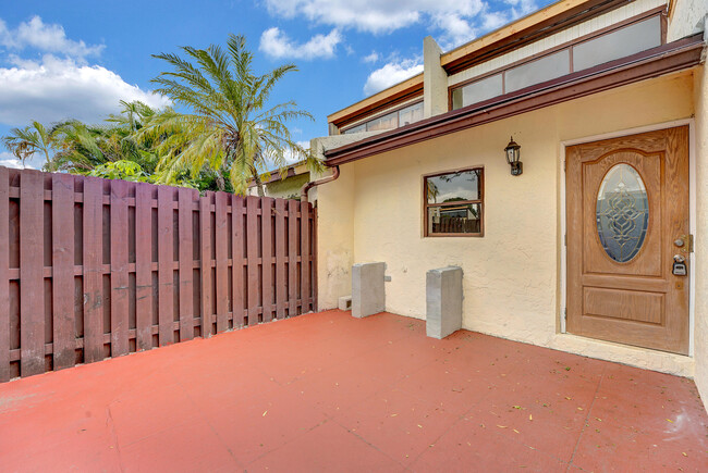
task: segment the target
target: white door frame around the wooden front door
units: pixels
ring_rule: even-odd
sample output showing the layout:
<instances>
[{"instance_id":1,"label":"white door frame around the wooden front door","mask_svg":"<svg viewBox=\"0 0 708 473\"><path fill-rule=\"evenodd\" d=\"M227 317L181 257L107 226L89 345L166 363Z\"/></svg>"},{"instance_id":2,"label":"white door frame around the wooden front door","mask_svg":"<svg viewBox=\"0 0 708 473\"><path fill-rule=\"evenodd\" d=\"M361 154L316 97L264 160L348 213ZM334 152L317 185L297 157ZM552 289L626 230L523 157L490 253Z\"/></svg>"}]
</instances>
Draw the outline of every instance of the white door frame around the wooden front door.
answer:
<instances>
[{"instance_id":1,"label":"white door frame around the wooden front door","mask_svg":"<svg viewBox=\"0 0 708 473\"><path fill-rule=\"evenodd\" d=\"M696 235L696 136L695 120L683 119L671 122L662 122L652 125L639 126L635 128L625 128L618 132L603 133L600 135L586 136L583 138L569 139L559 144L559 179L560 179L560 233L559 242L561 248L560 265L560 298L558 318L560 320L560 333L566 332L567 314L567 222L565 219L565 148L585 142L599 141L602 139L620 138L627 135L637 135L642 133L656 132L658 129L673 128L676 126L688 125L688 227L692 235ZM696 301L696 253L688 253L688 357L694 356L694 320L695 320L695 301ZM645 348L645 350L651 350Z\"/></svg>"}]
</instances>

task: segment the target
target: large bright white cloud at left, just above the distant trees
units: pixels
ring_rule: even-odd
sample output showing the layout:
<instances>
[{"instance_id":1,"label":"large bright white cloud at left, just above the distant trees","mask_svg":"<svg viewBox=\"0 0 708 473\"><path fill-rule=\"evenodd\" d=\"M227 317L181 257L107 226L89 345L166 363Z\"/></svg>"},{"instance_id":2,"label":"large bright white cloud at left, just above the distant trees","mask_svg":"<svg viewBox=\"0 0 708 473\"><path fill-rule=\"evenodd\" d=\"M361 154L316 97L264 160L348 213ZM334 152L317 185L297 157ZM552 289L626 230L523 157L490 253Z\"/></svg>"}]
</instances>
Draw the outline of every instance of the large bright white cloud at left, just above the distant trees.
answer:
<instances>
[{"instance_id":1,"label":"large bright white cloud at left, just above the distant trees","mask_svg":"<svg viewBox=\"0 0 708 473\"><path fill-rule=\"evenodd\" d=\"M125 83L99 65L46 54L41 61L10 58L0 67L0 123L21 126L32 120L48 124L65 119L96 123L119 109L119 100L166 107L169 99Z\"/></svg>"}]
</instances>

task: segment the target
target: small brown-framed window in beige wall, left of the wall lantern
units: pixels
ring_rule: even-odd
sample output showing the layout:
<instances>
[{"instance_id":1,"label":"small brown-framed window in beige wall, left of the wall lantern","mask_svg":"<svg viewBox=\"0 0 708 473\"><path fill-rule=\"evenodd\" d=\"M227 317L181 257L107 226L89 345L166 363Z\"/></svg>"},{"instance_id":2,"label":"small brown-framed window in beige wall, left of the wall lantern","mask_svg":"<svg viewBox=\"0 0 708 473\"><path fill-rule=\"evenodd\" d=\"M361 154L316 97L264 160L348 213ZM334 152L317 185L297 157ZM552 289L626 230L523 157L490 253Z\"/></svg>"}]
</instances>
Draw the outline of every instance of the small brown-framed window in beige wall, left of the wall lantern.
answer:
<instances>
[{"instance_id":1,"label":"small brown-framed window in beige wall, left of the wall lantern","mask_svg":"<svg viewBox=\"0 0 708 473\"><path fill-rule=\"evenodd\" d=\"M483 236L484 170L423 178L425 236Z\"/></svg>"}]
</instances>

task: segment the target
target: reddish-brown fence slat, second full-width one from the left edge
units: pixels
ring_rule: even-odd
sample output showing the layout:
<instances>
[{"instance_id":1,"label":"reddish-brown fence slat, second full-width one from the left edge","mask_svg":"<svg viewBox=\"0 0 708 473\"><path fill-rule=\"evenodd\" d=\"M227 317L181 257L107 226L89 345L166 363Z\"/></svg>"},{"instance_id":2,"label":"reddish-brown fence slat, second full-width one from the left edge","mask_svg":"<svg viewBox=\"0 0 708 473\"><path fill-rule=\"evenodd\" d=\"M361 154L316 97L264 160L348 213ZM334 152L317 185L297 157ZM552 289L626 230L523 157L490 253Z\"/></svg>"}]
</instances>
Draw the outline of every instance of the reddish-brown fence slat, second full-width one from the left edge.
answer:
<instances>
[{"instance_id":1,"label":"reddish-brown fence slat, second full-width one from the left edge","mask_svg":"<svg viewBox=\"0 0 708 473\"><path fill-rule=\"evenodd\" d=\"M73 366L76 362L74 335L74 176L51 176L51 288L53 366Z\"/></svg>"}]
</instances>

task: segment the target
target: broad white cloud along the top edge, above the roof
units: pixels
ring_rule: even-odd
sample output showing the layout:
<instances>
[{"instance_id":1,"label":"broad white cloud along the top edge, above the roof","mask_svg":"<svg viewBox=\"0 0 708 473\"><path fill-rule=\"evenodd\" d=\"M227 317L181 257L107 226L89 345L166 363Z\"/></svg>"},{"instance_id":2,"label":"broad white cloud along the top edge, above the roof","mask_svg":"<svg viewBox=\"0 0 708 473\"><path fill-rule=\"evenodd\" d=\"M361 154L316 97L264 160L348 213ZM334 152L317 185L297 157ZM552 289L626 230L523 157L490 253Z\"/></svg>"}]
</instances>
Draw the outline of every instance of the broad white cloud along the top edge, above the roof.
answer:
<instances>
[{"instance_id":1,"label":"broad white cloud along the top edge, above the roof","mask_svg":"<svg viewBox=\"0 0 708 473\"><path fill-rule=\"evenodd\" d=\"M536 10L535 0L266 0L268 11L286 18L304 17L316 24L354 28L374 34L391 33L414 24L439 30L448 47Z\"/></svg>"}]
</instances>

